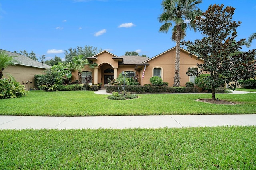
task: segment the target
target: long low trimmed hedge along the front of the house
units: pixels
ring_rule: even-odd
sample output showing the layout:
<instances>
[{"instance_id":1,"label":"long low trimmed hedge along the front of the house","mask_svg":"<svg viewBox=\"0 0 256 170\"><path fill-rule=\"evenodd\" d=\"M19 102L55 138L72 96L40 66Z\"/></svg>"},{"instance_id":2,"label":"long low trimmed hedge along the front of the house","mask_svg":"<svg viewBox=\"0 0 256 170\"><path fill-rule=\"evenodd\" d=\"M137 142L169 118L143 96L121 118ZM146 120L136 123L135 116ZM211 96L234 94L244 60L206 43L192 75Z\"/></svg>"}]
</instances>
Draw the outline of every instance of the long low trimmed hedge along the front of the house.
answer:
<instances>
[{"instance_id":1,"label":"long low trimmed hedge along the front of the house","mask_svg":"<svg viewBox=\"0 0 256 170\"><path fill-rule=\"evenodd\" d=\"M118 91L118 86L105 85L106 92L112 93ZM119 86L120 92L122 87ZM126 92L131 93L198 93L196 87L169 87L169 86L125 86Z\"/></svg>"}]
</instances>

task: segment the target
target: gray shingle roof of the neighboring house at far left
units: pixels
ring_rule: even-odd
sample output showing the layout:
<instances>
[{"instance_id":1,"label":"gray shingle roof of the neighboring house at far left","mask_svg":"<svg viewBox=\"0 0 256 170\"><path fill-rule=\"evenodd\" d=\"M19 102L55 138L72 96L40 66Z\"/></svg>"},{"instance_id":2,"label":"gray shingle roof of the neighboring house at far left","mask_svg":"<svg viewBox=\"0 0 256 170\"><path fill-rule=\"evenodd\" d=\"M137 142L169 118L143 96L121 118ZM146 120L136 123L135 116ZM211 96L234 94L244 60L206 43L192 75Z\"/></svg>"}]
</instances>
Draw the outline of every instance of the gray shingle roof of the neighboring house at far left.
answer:
<instances>
[{"instance_id":1,"label":"gray shingle roof of the neighboring house at far left","mask_svg":"<svg viewBox=\"0 0 256 170\"><path fill-rule=\"evenodd\" d=\"M40 63L38 61L35 61L33 59L30 59L29 57L27 57L25 55L12 53L10 51L6 51L6 50L2 50L2 49L0 49L0 51L4 51L9 56L14 56L13 59L18 61L18 62L14 62L16 65L23 65L23 66L30 66L30 67L44 68L44 69L51 67L51 66L48 66L46 64L43 65L42 63Z\"/></svg>"}]
</instances>

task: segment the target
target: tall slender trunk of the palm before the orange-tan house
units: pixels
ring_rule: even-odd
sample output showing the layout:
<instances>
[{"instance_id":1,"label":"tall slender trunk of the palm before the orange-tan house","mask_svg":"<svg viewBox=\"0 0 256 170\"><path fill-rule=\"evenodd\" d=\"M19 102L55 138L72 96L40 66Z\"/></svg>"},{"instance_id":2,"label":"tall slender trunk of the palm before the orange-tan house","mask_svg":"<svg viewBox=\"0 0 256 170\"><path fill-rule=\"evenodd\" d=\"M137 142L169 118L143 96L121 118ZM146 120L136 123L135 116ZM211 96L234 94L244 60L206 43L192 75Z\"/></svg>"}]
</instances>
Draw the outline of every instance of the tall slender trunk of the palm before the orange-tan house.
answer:
<instances>
[{"instance_id":1,"label":"tall slender trunk of the palm before the orange-tan house","mask_svg":"<svg viewBox=\"0 0 256 170\"><path fill-rule=\"evenodd\" d=\"M174 87L180 86L180 35L181 25L176 25L176 57L175 57L175 75Z\"/></svg>"}]
</instances>

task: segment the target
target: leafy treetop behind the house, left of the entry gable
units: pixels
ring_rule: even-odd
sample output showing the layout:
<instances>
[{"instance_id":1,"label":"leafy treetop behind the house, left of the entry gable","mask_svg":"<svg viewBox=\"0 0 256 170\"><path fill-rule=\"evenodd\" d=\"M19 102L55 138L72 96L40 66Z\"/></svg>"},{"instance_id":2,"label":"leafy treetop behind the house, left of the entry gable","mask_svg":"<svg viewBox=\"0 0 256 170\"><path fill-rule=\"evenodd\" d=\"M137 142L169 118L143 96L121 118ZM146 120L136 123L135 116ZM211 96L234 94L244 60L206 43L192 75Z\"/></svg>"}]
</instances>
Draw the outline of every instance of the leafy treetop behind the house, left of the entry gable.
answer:
<instances>
[{"instance_id":1,"label":"leafy treetop behind the house, left of the entry gable","mask_svg":"<svg viewBox=\"0 0 256 170\"><path fill-rule=\"evenodd\" d=\"M83 59L86 59L87 57L92 57L94 55L96 55L97 53L99 53L100 51L102 51L102 49L98 49L97 47L93 47L93 46L77 46L76 48L72 49L68 49L68 50L64 50L65 51L65 61L71 62L72 61L72 57L74 56L78 56L78 55L83 55Z\"/></svg>"}]
</instances>

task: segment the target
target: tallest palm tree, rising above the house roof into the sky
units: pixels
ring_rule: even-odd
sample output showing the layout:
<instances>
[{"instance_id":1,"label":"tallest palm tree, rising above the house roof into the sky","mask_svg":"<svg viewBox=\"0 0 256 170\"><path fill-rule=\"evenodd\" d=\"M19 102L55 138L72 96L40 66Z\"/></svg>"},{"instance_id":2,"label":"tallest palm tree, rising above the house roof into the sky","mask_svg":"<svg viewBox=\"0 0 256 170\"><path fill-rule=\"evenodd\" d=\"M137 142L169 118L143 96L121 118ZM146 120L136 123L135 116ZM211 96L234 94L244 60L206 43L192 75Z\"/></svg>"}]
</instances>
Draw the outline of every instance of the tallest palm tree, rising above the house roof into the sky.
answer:
<instances>
[{"instance_id":1,"label":"tallest palm tree, rising above the house roof into the sky","mask_svg":"<svg viewBox=\"0 0 256 170\"><path fill-rule=\"evenodd\" d=\"M174 87L180 86L180 41L186 36L188 25L196 31L193 21L202 14L197 6L201 2L202 0L164 0L161 3L164 12L158 17L158 21L164 24L159 32L167 33L172 23L175 24L172 29L172 41L176 41Z\"/></svg>"}]
</instances>

